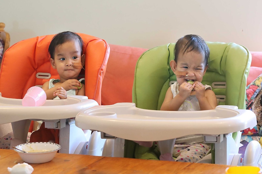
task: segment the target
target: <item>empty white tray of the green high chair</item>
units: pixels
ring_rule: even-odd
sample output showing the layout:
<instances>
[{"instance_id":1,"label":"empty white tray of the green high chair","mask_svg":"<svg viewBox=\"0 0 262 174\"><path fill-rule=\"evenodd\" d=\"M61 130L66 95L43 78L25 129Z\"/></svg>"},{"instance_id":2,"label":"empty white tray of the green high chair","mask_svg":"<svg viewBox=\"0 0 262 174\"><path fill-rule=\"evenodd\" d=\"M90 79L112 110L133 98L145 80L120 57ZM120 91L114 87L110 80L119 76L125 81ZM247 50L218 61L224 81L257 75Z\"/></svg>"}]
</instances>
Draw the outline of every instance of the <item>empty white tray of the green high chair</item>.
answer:
<instances>
[{"instance_id":1,"label":"empty white tray of the green high chair","mask_svg":"<svg viewBox=\"0 0 262 174\"><path fill-rule=\"evenodd\" d=\"M220 135L253 128L251 110L220 105L204 111L160 111L137 108L135 103L95 106L77 114L76 126L136 141L169 140L201 134Z\"/></svg>"}]
</instances>

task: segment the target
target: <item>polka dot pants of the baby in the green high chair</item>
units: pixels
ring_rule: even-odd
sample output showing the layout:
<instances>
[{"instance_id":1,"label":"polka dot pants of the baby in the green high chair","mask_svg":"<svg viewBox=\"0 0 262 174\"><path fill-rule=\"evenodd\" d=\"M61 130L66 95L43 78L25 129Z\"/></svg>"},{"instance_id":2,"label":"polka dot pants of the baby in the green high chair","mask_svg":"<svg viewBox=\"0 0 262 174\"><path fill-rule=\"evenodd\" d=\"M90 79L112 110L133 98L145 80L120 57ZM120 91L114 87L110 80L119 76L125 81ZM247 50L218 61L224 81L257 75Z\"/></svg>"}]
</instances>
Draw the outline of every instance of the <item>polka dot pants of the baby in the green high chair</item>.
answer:
<instances>
[{"instance_id":1,"label":"polka dot pants of the baby in the green high chair","mask_svg":"<svg viewBox=\"0 0 262 174\"><path fill-rule=\"evenodd\" d=\"M173 156L176 161L196 163L202 159L209 151L210 146L199 143L199 144L175 144Z\"/></svg>"}]
</instances>

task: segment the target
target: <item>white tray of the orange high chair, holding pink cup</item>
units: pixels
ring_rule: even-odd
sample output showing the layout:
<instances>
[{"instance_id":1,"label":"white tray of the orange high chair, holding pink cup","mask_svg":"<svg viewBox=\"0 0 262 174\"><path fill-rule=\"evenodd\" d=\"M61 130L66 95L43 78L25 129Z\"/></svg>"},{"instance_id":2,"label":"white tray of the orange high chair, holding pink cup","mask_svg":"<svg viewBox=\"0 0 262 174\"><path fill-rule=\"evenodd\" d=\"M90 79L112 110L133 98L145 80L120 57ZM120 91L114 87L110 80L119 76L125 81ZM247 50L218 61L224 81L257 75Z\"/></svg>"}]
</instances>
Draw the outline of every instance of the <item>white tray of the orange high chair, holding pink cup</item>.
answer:
<instances>
[{"instance_id":1,"label":"white tray of the orange high chair, holding pink cup","mask_svg":"<svg viewBox=\"0 0 262 174\"><path fill-rule=\"evenodd\" d=\"M46 100L39 107L23 107L22 99L2 97L0 93L0 124L20 120L59 120L72 118L81 110L98 105L86 96L70 96L63 100Z\"/></svg>"}]
</instances>

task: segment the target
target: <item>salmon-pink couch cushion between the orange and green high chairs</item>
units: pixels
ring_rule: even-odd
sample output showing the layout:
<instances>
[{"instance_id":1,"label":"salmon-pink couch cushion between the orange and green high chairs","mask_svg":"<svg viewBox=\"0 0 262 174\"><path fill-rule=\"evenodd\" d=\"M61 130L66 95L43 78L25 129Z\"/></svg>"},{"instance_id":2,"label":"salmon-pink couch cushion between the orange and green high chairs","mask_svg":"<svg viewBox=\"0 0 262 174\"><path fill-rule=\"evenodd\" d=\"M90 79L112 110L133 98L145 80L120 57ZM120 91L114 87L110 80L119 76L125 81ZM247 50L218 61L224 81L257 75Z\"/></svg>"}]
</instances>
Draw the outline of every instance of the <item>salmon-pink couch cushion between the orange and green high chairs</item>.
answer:
<instances>
[{"instance_id":1,"label":"salmon-pink couch cushion between the orange and green high chairs","mask_svg":"<svg viewBox=\"0 0 262 174\"><path fill-rule=\"evenodd\" d=\"M110 54L102 83L102 105L132 102L136 61L144 48L109 44Z\"/></svg>"}]
</instances>

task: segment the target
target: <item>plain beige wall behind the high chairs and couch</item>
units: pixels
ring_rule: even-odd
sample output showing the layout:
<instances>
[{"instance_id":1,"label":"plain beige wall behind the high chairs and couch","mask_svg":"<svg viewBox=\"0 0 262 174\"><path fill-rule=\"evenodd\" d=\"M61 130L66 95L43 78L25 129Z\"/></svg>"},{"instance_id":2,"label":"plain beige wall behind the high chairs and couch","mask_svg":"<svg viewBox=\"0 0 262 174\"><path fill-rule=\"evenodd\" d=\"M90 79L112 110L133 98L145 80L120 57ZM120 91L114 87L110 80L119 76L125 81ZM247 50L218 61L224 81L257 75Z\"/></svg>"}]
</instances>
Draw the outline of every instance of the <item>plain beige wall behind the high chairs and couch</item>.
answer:
<instances>
[{"instance_id":1,"label":"plain beige wall behind the high chairs and couch","mask_svg":"<svg viewBox=\"0 0 262 174\"><path fill-rule=\"evenodd\" d=\"M142 48L198 34L262 51L260 0L0 0L0 6L11 44L70 30Z\"/></svg>"}]
</instances>

